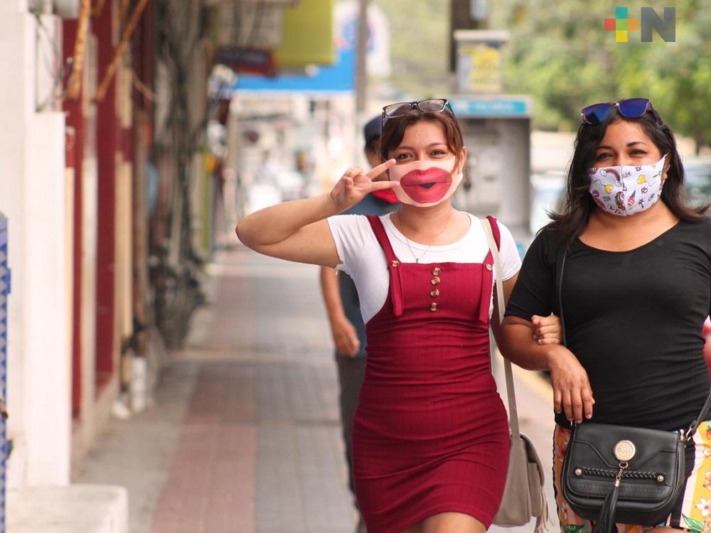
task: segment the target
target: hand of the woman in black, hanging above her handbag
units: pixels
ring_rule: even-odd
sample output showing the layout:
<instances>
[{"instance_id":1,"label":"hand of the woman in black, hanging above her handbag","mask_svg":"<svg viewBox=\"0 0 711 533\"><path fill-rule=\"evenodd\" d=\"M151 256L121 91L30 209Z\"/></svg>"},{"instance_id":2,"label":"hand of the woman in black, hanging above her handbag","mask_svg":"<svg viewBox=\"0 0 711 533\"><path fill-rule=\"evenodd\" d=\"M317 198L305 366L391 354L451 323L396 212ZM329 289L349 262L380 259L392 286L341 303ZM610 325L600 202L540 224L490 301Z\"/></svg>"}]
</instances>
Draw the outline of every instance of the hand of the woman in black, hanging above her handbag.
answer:
<instances>
[{"instance_id":1,"label":"hand of the woman in black, hanging above her handbag","mask_svg":"<svg viewBox=\"0 0 711 533\"><path fill-rule=\"evenodd\" d=\"M576 424L583 417L592 417L592 387L587 372L570 350L564 346L552 347L548 369L553 387L553 409L556 413L565 412L565 418Z\"/></svg>"}]
</instances>

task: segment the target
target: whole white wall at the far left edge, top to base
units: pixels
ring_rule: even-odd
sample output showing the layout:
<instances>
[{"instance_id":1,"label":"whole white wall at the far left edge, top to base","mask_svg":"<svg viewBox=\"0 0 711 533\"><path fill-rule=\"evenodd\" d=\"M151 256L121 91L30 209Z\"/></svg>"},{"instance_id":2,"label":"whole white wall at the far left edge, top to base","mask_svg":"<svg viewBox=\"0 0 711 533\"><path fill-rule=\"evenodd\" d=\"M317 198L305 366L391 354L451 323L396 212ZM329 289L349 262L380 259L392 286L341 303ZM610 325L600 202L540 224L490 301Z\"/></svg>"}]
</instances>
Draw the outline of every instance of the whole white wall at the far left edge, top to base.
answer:
<instances>
[{"instance_id":1,"label":"whole white wall at the far left edge, top to base","mask_svg":"<svg viewBox=\"0 0 711 533\"><path fill-rule=\"evenodd\" d=\"M51 18L45 18L50 28ZM36 21L0 1L0 211L9 218L9 486L65 484L70 445L70 286L64 117L35 112ZM47 46L46 39L41 45ZM44 57L44 56L43 56ZM46 68L43 65L43 68Z\"/></svg>"}]
</instances>

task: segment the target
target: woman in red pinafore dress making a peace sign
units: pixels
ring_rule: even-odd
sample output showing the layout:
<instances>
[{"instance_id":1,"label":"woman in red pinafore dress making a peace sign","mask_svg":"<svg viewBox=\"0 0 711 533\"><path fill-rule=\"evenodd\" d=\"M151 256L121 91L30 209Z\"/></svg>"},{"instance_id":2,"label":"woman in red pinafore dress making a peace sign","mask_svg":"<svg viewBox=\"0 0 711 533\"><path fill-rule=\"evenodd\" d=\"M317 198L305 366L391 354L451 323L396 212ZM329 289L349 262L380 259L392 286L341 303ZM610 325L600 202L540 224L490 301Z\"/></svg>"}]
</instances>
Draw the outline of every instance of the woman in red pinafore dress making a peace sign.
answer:
<instances>
[{"instance_id":1,"label":"woman in red pinafore dress making a peace sign","mask_svg":"<svg viewBox=\"0 0 711 533\"><path fill-rule=\"evenodd\" d=\"M506 410L491 375L493 258L481 222L455 210L466 148L446 99L383 108L381 154L330 193L245 217L237 235L263 254L332 266L355 281L368 360L353 420L353 473L369 533L483 533L501 503ZM387 171L388 181L373 181ZM338 215L373 190L401 207ZM505 299L520 259L491 219ZM555 343L555 317L534 317Z\"/></svg>"}]
</instances>

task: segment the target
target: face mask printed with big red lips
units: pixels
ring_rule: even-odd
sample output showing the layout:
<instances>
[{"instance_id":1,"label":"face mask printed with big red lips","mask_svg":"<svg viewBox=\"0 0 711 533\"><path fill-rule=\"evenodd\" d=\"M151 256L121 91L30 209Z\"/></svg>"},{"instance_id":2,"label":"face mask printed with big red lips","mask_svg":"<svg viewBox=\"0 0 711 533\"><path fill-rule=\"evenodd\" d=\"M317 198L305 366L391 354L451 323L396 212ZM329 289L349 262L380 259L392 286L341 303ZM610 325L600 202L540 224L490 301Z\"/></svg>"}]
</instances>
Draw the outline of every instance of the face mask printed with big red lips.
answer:
<instances>
[{"instance_id":1,"label":"face mask printed with big red lips","mask_svg":"<svg viewBox=\"0 0 711 533\"><path fill-rule=\"evenodd\" d=\"M390 180L399 181L395 195L402 203L428 208L444 202L461 181L461 173L452 176L454 156L439 161L412 161L395 165L388 171Z\"/></svg>"}]
</instances>

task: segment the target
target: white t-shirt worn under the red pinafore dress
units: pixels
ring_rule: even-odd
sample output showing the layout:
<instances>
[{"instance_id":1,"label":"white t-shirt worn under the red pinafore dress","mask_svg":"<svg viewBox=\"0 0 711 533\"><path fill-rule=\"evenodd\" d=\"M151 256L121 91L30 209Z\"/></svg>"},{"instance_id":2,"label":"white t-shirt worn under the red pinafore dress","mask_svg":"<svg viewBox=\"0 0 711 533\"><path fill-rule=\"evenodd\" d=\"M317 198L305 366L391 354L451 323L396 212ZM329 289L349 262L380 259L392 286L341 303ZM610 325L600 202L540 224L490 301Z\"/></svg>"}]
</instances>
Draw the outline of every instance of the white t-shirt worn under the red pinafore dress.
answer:
<instances>
[{"instance_id":1,"label":"white t-shirt worn under the red pinafore dress","mask_svg":"<svg viewBox=\"0 0 711 533\"><path fill-rule=\"evenodd\" d=\"M469 231L456 242L427 249L425 244L410 241L412 251L421 258L419 262L482 263L488 254L486 235L479 219L471 214L469 217L471 218ZM373 318L383 307L390 286L385 252L378 244L373 228L364 215L336 215L328 217L327 220L333 240L336 241L338 258L341 259L341 264L336 266L336 269L345 271L353 278L360 299L360 314L363 315L363 322L368 323L370 318ZM402 235L392 224L390 215L383 215L380 220L385 226L387 238L397 259L402 263L415 263L415 257L407 246L405 235ZM501 231L499 247L501 279L506 281L518 273L521 259L511 232L501 222L498 222L498 227ZM492 310L493 298L489 308L490 315Z\"/></svg>"}]
</instances>

